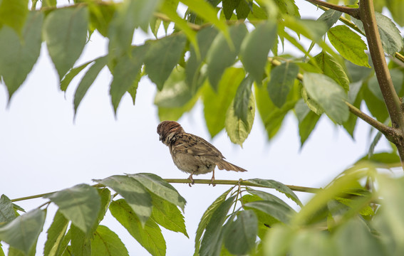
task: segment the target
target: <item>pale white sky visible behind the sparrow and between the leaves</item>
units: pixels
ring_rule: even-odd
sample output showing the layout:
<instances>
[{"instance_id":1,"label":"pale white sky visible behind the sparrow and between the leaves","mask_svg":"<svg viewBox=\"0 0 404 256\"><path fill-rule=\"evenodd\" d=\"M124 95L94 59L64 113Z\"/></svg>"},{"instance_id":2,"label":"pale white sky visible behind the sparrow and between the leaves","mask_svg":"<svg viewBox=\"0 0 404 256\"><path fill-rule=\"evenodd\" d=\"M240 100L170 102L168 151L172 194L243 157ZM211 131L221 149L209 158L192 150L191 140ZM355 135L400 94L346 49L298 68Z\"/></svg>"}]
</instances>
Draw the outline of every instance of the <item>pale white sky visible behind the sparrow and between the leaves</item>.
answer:
<instances>
[{"instance_id":1,"label":"pale white sky visible behind the sparrow and between the leaves","mask_svg":"<svg viewBox=\"0 0 404 256\"><path fill-rule=\"evenodd\" d=\"M297 4L304 17L322 14L304 1L297 1ZM136 35L135 41L138 40L143 41L144 37ZM95 33L78 63L103 55L106 49L107 41ZM33 71L15 93L9 107L6 107L6 88L0 86L0 194L9 198L31 196L78 183L93 184L93 178L124 173L150 172L162 178L187 178L188 174L172 163L167 146L158 140L157 107L152 104L155 85L143 78L135 107L126 94L115 119L108 93L110 79L105 68L81 102L76 123L73 123L73 95L79 80L73 80L64 95L58 89L56 70L46 47L42 48ZM369 144L368 126L361 121L356 127L356 142L353 142L343 129L322 117L302 150L293 114L286 117L281 132L268 143L257 112L252 133L243 148L232 144L225 132L209 139L200 103L179 122L186 132L208 139L229 161L248 170L247 173L217 171L217 179L268 178L288 185L321 187L366 154ZM382 142L377 149L385 149L386 145ZM211 178L210 175L195 178ZM204 210L229 187L174 186L187 200L185 220L190 239L163 230L167 255L190 255ZM303 201L310 198L305 193L297 195ZM36 199L17 204L31 210L43 202ZM46 230L55 209L51 206L48 210L37 255L43 252ZM130 255L148 255L109 213L101 224L119 235Z\"/></svg>"}]
</instances>

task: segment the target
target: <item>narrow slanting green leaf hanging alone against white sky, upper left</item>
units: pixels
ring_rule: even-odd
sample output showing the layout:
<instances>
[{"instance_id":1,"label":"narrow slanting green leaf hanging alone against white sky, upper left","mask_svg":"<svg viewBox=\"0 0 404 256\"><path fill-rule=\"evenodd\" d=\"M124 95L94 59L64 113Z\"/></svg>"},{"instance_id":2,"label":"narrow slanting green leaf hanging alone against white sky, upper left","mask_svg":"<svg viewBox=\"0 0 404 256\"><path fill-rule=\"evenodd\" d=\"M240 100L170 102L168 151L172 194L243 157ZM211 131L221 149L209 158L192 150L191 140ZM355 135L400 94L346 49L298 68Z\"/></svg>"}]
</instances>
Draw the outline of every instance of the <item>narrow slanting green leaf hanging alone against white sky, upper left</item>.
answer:
<instances>
[{"instance_id":1,"label":"narrow slanting green leaf hanging alone against white sky, upper left","mask_svg":"<svg viewBox=\"0 0 404 256\"><path fill-rule=\"evenodd\" d=\"M93 84L95 78L97 78L98 73L107 65L108 63L108 56L100 57L94 61L94 64L88 69L86 75L81 78L80 83L76 89L74 94L74 114L77 113L78 105L80 105L81 100L83 100L84 95L88 88ZM70 74L70 73L69 73Z\"/></svg>"}]
</instances>

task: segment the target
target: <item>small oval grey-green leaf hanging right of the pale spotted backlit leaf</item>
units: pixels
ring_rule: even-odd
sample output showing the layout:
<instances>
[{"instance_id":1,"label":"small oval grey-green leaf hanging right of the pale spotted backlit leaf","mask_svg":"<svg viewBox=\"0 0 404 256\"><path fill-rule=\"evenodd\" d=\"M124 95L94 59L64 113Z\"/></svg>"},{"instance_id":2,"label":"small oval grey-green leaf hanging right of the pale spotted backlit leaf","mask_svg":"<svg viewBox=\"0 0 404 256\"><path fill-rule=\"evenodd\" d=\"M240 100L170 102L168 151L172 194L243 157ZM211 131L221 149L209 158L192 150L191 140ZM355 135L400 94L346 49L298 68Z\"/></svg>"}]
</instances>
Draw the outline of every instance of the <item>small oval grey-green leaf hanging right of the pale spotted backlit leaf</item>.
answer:
<instances>
[{"instance_id":1,"label":"small oval grey-green leaf hanging right of the pale spotted backlit leaf","mask_svg":"<svg viewBox=\"0 0 404 256\"><path fill-rule=\"evenodd\" d=\"M271 70L271 79L266 85L266 90L276 107L281 108L285 104L298 73L299 66L289 61Z\"/></svg>"}]
</instances>

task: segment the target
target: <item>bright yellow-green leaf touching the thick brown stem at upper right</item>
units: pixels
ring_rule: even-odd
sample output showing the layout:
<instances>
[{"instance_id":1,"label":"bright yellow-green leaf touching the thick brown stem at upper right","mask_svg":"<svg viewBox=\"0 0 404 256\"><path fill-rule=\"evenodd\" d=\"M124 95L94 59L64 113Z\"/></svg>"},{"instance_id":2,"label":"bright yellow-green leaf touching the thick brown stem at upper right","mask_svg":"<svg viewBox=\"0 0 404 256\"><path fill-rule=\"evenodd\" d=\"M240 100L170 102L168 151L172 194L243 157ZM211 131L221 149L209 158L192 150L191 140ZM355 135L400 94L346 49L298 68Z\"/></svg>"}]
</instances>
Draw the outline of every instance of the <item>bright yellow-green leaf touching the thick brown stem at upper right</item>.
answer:
<instances>
[{"instance_id":1,"label":"bright yellow-green leaf touching the thick brown stem at upper right","mask_svg":"<svg viewBox=\"0 0 404 256\"><path fill-rule=\"evenodd\" d=\"M343 58L356 65L371 68L368 63L368 55L365 53L368 47L361 36L343 25L330 28L327 34L328 40Z\"/></svg>"}]
</instances>

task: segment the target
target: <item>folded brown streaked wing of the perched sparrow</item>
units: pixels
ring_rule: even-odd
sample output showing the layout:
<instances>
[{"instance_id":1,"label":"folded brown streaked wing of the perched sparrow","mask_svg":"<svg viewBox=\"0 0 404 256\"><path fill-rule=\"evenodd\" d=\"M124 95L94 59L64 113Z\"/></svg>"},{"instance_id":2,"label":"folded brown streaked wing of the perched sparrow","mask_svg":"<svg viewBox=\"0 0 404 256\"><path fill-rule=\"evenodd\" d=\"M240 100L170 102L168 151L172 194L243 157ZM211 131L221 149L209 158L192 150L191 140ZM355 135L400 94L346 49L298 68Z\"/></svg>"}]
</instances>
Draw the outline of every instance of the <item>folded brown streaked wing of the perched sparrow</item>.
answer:
<instances>
[{"instance_id":1,"label":"folded brown streaked wing of the perched sparrow","mask_svg":"<svg viewBox=\"0 0 404 256\"><path fill-rule=\"evenodd\" d=\"M206 140L194 134L182 134L172 148L173 153L191 154L192 156L216 156L224 159L220 151Z\"/></svg>"}]
</instances>

